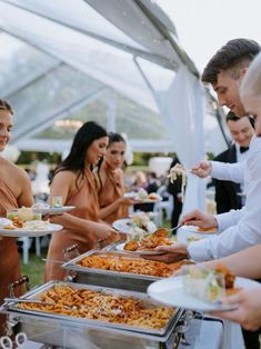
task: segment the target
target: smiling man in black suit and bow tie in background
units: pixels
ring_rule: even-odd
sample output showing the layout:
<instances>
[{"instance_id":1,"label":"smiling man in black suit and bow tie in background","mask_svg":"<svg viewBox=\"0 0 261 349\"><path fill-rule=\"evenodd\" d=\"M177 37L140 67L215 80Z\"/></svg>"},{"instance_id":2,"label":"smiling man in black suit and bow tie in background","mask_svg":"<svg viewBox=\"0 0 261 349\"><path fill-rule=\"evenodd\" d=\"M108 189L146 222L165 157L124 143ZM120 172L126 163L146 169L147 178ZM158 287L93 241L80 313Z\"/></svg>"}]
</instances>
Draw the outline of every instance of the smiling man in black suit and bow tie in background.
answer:
<instances>
[{"instance_id":1,"label":"smiling man in black suit and bow tie in background","mask_svg":"<svg viewBox=\"0 0 261 349\"><path fill-rule=\"evenodd\" d=\"M230 148L214 158L221 162L240 162L248 157L248 147L254 134L253 120L249 117L238 118L232 111L227 116L227 124L229 127L233 143ZM217 212L224 213L231 209L240 209L242 207L243 186L227 180L214 179Z\"/></svg>"}]
</instances>

